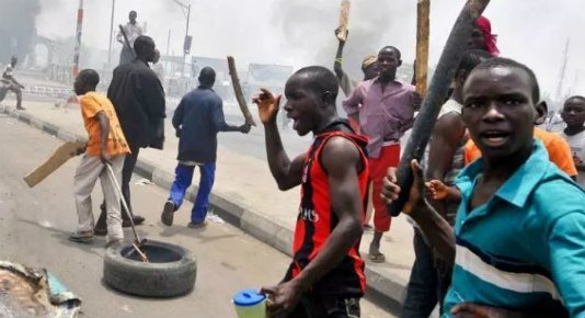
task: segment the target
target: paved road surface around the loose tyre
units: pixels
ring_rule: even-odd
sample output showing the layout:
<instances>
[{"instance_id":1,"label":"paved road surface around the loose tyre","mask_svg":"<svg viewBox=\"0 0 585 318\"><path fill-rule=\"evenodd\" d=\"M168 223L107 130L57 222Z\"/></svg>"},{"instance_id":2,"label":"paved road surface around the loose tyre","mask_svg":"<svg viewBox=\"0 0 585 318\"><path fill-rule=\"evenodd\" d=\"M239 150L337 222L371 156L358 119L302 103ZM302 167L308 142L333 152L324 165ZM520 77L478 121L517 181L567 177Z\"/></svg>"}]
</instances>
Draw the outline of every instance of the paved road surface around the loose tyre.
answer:
<instances>
[{"instance_id":1,"label":"paved road surface around the loose tyre","mask_svg":"<svg viewBox=\"0 0 585 318\"><path fill-rule=\"evenodd\" d=\"M236 291L282 277L288 258L232 226L211 223L205 229L188 229L186 214L179 215L179 226L172 228L153 222L158 209L152 207L161 206L167 192L134 184L133 204L151 222L140 227L140 235L193 250L198 257L196 288L185 297L156 300L111 291L101 282L104 240L91 246L67 240L77 220L72 178L79 159L27 189L22 177L60 141L5 116L0 116L0 259L53 271L83 299L82 317L230 318L236 317L230 305ZM95 208L102 197L96 189ZM368 302L363 302L363 317L394 317Z\"/></svg>"}]
</instances>

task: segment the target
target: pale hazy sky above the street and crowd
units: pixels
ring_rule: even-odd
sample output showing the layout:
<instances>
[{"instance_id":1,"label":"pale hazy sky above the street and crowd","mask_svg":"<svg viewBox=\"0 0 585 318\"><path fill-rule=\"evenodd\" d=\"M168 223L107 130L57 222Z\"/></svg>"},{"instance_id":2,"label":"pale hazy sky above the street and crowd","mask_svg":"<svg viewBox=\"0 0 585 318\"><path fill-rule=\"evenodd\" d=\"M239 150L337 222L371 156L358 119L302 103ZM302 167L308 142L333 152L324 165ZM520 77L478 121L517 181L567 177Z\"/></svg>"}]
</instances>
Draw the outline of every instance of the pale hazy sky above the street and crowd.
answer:
<instances>
[{"instance_id":1,"label":"pale hazy sky above the street and crowd","mask_svg":"<svg viewBox=\"0 0 585 318\"><path fill-rule=\"evenodd\" d=\"M79 1L39 0L37 32L49 37L72 36ZM191 3L192 54L238 64L265 63L332 66L336 49L333 35L340 0L179 0ZM436 64L464 0L431 0L431 64ZM112 0L84 0L83 42L107 49ZM173 0L115 0L114 25L138 12L146 33L165 54L180 55L185 15ZM582 0L492 0L484 15L492 21L502 56L531 67L542 90L557 96L563 52L571 38L569 64L561 95L585 94L585 37ZM385 45L402 50L412 63L415 54L415 0L353 0L344 66L359 77L362 59ZM119 44L115 43L116 47ZM571 91L569 91L571 90Z\"/></svg>"}]
</instances>

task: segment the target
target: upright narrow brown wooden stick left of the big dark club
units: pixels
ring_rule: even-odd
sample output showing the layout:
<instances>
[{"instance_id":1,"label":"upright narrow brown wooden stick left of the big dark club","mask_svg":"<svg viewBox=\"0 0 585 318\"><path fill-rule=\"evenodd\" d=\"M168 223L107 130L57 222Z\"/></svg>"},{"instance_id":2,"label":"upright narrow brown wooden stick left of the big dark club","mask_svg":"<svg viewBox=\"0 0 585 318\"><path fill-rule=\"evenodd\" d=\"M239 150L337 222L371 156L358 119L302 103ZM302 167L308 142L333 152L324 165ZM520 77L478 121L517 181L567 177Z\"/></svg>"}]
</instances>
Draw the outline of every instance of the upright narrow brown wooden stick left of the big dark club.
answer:
<instances>
[{"instance_id":1,"label":"upright narrow brown wooden stick left of the big dark club","mask_svg":"<svg viewBox=\"0 0 585 318\"><path fill-rule=\"evenodd\" d=\"M431 0L418 0L416 19L416 92L426 93Z\"/></svg>"}]
</instances>

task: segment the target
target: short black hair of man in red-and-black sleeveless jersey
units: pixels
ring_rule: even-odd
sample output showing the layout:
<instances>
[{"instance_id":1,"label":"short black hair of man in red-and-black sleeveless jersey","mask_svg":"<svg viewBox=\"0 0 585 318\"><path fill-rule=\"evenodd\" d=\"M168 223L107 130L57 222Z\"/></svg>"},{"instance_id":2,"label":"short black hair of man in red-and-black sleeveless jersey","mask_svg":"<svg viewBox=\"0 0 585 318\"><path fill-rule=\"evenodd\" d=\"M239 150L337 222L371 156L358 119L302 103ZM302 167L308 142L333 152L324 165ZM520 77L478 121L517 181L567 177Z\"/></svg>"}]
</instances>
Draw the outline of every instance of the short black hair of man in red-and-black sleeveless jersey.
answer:
<instances>
[{"instance_id":1,"label":"short black hair of man in red-and-black sleeveless jersey","mask_svg":"<svg viewBox=\"0 0 585 318\"><path fill-rule=\"evenodd\" d=\"M337 99L340 86L335 75L322 66L308 66L297 70L290 78L305 77L308 81L305 87L311 92L322 95L326 92L331 94L333 104Z\"/></svg>"}]
</instances>

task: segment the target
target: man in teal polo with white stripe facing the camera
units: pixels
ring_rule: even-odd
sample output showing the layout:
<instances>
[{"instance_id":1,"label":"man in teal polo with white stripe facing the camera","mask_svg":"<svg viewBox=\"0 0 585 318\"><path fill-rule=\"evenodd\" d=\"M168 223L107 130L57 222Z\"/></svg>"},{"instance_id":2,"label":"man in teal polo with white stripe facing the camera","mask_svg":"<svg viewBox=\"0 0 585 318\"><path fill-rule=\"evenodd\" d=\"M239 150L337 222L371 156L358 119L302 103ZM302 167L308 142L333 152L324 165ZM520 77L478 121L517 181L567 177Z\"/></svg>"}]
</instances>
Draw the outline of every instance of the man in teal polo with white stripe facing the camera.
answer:
<instances>
[{"instance_id":1,"label":"man in teal polo with white stripe facing the camera","mask_svg":"<svg viewBox=\"0 0 585 318\"><path fill-rule=\"evenodd\" d=\"M585 191L532 138L538 82L526 66L493 58L470 73L462 120L483 157L456 180L452 228L415 185L404 213L454 266L446 317L585 317ZM385 180L387 202L400 192Z\"/></svg>"}]
</instances>

